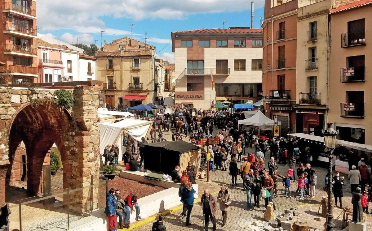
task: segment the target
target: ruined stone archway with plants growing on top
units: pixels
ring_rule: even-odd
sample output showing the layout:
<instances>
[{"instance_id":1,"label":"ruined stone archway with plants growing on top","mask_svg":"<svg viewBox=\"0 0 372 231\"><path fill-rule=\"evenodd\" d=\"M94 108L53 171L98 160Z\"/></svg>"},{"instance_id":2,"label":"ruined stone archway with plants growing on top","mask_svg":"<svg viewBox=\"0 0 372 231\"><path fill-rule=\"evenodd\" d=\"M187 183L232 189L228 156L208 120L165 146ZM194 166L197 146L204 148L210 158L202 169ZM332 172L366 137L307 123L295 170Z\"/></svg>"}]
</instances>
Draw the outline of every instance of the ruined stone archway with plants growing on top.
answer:
<instances>
[{"instance_id":1,"label":"ruined stone archway with plants growing on top","mask_svg":"<svg viewBox=\"0 0 372 231\"><path fill-rule=\"evenodd\" d=\"M50 102L35 108L29 103L27 87L0 87L0 205L5 202L5 189L12 180L12 170L16 172L12 165L21 141L27 153L29 195L41 193L42 165L53 143L61 154L63 188L89 186L91 175L93 183L99 181L97 107L102 82L57 84L63 85L60 88L73 91L75 105L70 110L60 110ZM32 84L33 87L40 85L45 84ZM59 88L42 87L36 89L38 98L52 98ZM93 203L89 201L92 197L88 194L84 190L70 195L74 211L83 213L97 208L98 193L93 192Z\"/></svg>"}]
</instances>

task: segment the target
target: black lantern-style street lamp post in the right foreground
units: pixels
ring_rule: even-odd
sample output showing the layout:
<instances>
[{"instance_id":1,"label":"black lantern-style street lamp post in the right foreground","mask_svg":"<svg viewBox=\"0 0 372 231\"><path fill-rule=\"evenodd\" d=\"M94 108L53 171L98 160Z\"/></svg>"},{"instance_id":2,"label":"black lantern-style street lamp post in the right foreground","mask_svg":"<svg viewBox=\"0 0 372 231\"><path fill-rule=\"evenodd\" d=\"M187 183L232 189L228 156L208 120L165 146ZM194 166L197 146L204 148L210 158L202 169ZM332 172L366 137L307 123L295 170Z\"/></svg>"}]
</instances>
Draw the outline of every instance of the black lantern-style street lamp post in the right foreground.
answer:
<instances>
[{"instance_id":1,"label":"black lantern-style street lamp post in the right foreground","mask_svg":"<svg viewBox=\"0 0 372 231\"><path fill-rule=\"evenodd\" d=\"M328 189L328 222L327 222L327 231L333 231L334 222L333 222L333 211L332 211L332 154L333 150L336 148L336 136L339 134L339 131L334 130L332 127L333 123L327 123L328 127L325 130L322 130L324 136L324 145L327 148L328 152L328 162L329 162L329 189Z\"/></svg>"}]
</instances>

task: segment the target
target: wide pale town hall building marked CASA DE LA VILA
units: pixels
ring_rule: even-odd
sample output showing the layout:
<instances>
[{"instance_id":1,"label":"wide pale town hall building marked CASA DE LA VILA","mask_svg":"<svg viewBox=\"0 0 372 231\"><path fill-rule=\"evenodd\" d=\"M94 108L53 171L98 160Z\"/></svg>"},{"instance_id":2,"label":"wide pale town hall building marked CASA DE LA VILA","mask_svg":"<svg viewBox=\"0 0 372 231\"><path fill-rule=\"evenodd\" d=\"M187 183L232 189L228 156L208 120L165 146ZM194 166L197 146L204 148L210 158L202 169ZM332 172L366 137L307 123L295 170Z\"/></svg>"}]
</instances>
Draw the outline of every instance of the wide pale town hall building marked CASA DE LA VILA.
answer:
<instances>
[{"instance_id":1,"label":"wide pale town hall building marked CASA DE LA VILA","mask_svg":"<svg viewBox=\"0 0 372 231\"><path fill-rule=\"evenodd\" d=\"M177 104L256 102L262 97L262 29L230 27L171 33Z\"/></svg>"}]
</instances>

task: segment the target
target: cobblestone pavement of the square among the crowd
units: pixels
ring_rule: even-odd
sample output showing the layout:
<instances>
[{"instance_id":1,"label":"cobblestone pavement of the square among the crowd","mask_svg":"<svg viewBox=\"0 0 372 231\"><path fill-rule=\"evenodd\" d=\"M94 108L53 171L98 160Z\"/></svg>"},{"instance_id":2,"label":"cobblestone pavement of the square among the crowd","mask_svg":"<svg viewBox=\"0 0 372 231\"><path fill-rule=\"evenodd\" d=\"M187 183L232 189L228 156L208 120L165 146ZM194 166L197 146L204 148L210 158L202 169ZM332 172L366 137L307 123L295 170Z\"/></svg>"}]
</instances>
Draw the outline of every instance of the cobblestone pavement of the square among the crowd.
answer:
<instances>
[{"instance_id":1,"label":"cobblestone pavement of the square among the crowd","mask_svg":"<svg viewBox=\"0 0 372 231\"><path fill-rule=\"evenodd\" d=\"M218 131L218 130L217 130ZM216 131L215 131L216 132ZM167 140L171 140L168 138L170 137L170 134L166 132L164 135ZM188 139L186 140L188 141ZM252 149L246 148L246 152L251 152ZM268 153L266 153L266 157L268 157ZM268 158L267 158L268 159ZM266 160L267 162L267 160ZM266 164L267 166L267 164ZM301 215L299 217L294 217L294 220L298 221L307 221L310 227L319 228L320 230L323 230L323 224L325 222L325 218L321 218L321 221L315 221L315 217L320 217L320 215L317 215L317 210L319 208L319 204L321 201L321 197L325 196L326 193L322 191L322 188L324 186L324 177L327 173L327 166L315 166L315 171L317 172L317 186L316 186L316 197L314 199L306 199L306 200L299 200L299 195L295 193L295 190L297 188L296 183L292 183L291 186L291 195L294 196L294 198L289 199L283 196L284 187L281 183L281 179L279 179L278 184L278 196L273 198L273 201L276 205L276 211L274 212L274 218L276 218L278 215L282 215L284 212L284 209L289 209L292 207L300 207L299 211L301 212ZM283 164L279 165L279 173L282 175L285 175L285 172L288 170L288 167L284 166ZM228 175L228 171L221 171L221 170L215 170L214 172L210 172L210 178L211 182L218 183L219 185L231 185L231 176ZM297 178L297 177L296 177ZM351 193L350 193L350 185L349 181L347 180L347 177L345 177L346 185L344 186L344 198L343 198L343 206L347 206L351 204ZM227 217L227 223L224 227L221 227L222 224L222 214L219 210L219 207L217 209L217 230L224 230L224 231L243 231L247 230L245 227L251 226L253 221L259 221L262 224L267 224L263 220L263 211L264 211L264 202L261 202L260 205L261 208L253 208L251 211L247 211L246 209L246 202L247 202L247 196L242 189L242 179L238 176L238 186L234 188L228 189L228 191L232 195L232 204L231 209L228 212ZM200 192L199 192L200 194ZM217 195L216 195L217 196ZM253 202L253 199L252 199ZM341 209L335 208L334 209L334 218L336 218L340 213ZM167 230L171 231L183 231L183 230L203 230L203 215L202 215L202 208L200 205L195 204L192 213L191 213L191 223L193 225L186 227L185 221L180 220L179 214L181 211L177 211L173 214L169 214L166 216L166 220L164 224L167 227ZM341 217L336 222L336 230L342 230L340 228ZM371 222L371 217L368 218L368 222ZM141 227L136 228L135 230L138 231L148 231L151 230L152 222L147 223L145 225L142 225ZM212 230L212 224L209 222L209 229Z\"/></svg>"}]
</instances>

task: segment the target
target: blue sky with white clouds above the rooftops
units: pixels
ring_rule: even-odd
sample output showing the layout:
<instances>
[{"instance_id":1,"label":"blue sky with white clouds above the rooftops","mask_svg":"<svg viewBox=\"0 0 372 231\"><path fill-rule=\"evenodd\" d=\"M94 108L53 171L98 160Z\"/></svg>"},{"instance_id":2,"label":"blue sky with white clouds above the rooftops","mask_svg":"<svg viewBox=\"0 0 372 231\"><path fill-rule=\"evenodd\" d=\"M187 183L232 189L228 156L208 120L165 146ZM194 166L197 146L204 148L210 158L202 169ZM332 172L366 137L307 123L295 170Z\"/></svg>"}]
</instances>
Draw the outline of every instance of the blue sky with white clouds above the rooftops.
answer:
<instances>
[{"instance_id":1,"label":"blue sky with white clouds above the rooftops","mask_svg":"<svg viewBox=\"0 0 372 231\"><path fill-rule=\"evenodd\" d=\"M260 28L264 1L254 1L254 28ZM131 36L154 45L157 58L174 62L171 32L251 26L248 0L38 0L37 27L68 43L107 43ZM101 40L101 31L102 40Z\"/></svg>"}]
</instances>

